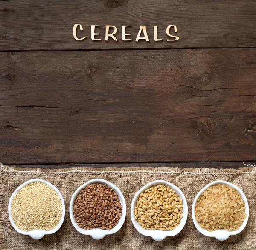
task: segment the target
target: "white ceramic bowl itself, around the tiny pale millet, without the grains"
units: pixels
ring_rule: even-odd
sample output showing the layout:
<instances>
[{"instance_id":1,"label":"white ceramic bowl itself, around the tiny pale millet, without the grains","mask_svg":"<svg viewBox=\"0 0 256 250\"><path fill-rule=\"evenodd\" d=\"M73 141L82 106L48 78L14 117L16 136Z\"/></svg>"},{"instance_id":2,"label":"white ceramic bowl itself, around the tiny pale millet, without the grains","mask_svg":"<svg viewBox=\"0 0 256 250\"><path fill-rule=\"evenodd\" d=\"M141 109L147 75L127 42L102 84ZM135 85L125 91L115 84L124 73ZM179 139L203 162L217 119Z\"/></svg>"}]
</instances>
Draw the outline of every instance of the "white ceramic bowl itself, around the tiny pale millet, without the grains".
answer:
<instances>
[{"instance_id":1,"label":"white ceramic bowl itself, around the tiny pale millet, without the grains","mask_svg":"<svg viewBox=\"0 0 256 250\"><path fill-rule=\"evenodd\" d=\"M21 188L24 188L26 185L28 185L29 183L32 183L32 182L43 182L45 184L47 184L48 186L50 186L51 188L53 188L56 193L58 193L58 196L60 196L61 198L61 203L62 203L62 216L61 216L61 220L60 220L60 223L58 224L57 227L55 227L54 229L52 230L49 230L49 231L46 231L46 230L32 230L32 231L23 231L23 230L20 230L19 228L17 228L17 226L15 225L15 223L13 222L12 220L12 214L11 214L11 205L12 205L12 199L13 197L15 196L15 194L21 189ZM52 185L51 183L45 181L45 180L42 180L42 179L31 179L27 182L24 182L23 184L21 184L18 188L15 189L15 191L12 193L12 196L11 198L9 199L9 204L8 204L8 214L9 214L9 219L10 219L10 222L13 226L13 228L18 232L18 233L21 233L21 234L24 234L24 235L29 235L30 237L32 237L33 239L41 239L44 237L44 235L46 234L52 234L52 233L55 233L57 232L63 221L64 221L64 217L65 217L65 203L64 203L64 199L60 193L60 191L58 190L58 188L56 188L54 185Z\"/></svg>"}]
</instances>

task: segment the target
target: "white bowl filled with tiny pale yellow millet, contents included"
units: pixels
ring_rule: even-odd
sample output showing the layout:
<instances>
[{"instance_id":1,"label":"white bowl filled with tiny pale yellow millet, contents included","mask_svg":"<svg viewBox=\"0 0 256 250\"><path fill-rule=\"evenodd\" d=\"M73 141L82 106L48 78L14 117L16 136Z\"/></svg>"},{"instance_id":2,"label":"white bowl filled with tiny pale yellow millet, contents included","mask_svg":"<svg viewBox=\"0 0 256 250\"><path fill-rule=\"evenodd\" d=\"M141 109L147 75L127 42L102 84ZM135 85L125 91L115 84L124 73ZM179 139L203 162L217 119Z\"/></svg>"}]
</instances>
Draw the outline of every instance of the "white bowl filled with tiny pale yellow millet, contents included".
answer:
<instances>
[{"instance_id":1,"label":"white bowl filled with tiny pale yellow millet, contents included","mask_svg":"<svg viewBox=\"0 0 256 250\"><path fill-rule=\"evenodd\" d=\"M12 193L8 214L18 233L41 239L61 227L65 217L64 199L51 183L31 179Z\"/></svg>"}]
</instances>

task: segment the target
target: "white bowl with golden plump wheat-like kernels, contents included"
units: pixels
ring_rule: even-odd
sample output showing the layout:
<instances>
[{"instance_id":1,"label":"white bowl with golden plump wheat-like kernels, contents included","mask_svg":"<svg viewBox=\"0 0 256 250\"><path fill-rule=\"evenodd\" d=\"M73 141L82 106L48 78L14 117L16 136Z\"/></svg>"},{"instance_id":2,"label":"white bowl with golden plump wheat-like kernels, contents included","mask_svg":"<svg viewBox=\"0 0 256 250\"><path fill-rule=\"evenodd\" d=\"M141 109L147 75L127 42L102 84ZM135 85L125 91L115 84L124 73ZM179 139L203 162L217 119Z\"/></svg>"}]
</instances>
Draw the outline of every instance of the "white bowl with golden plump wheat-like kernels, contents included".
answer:
<instances>
[{"instance_id":1,"label":"white bowl with golden plump wheat-like kernels, contents included","mask_svg":"<svg viewBox=\"0 0 256 250\"><path fill-rule=\"evenodd\" d=\"M170 182L157 180L141 188L131 203L131 221L144 236L161 241L183 229L188 205L182 191Z\"/></svg>"}]
</instances>

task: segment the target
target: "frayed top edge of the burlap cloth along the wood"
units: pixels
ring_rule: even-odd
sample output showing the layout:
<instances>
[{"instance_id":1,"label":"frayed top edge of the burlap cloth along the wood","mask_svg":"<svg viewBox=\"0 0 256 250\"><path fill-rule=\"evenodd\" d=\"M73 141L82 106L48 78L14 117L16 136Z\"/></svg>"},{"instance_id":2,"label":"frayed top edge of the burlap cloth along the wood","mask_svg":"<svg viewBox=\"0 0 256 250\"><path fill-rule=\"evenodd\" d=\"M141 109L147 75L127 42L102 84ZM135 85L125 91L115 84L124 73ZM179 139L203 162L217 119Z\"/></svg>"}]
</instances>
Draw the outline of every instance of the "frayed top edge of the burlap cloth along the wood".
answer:
<instances>
[{"instance_id":1,"label":"frayed top edge of the burlap cloth along the wood","mask_svg":"<svg viewBox=\"0 0 256 250\"><path fill-rule=\"evenodd\" d=\"M46 168L19 168L10 167L7 165L0 164L2 171L33 171L43 173L66 173L70 171L96 171L96 172L134 172L134 171L148 171L148 172L173 172L173 173L198 173L198 174L209 174L209 173L229 173L229 174L241 174L241 173L256 173L256 167L241 167L238 169L226 168L172 168L172 167L107 167L107 168L93 168L93 167L70 167L70 168L57 168L57 169L46 169ZM1 191L0 191L1 192Z\"/></svg>"}]
</instances>

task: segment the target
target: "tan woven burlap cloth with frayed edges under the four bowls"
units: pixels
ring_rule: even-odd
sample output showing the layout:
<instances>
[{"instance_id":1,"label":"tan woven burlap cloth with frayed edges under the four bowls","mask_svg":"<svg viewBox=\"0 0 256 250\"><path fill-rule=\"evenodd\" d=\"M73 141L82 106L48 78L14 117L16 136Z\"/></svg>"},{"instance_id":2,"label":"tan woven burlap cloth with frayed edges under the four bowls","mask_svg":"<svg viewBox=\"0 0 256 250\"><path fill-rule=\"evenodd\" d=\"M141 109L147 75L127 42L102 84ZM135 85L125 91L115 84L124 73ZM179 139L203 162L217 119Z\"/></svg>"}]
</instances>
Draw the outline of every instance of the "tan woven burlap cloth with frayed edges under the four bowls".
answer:
<instances>
[{"instance_id":1,"label":"tan woven burlap cloth with frayed edges under the four bowls","mask_svg":"<svg viewBox=\"0 0 256 250\"><path fill-rule=\"evenodd\" d=\"M49 170L48 170L49 171ZM57 233L33 240L30 236L17 233L9 222L8 202L12 192L29 179L41 178L55 185L62 193L66 205L64 223ZM69 203L73 192L83 183L93 178L108 180L122 191L127 214L119 232L94 240L90 236L78 233L70 222ZM0 172L0 249L5 250L255 250L256 249L256 168L226 169L178 169L178 168L73 168L66 170L19 170L2 166ZM153 180L163 179L179 187L186 196L189 215L183 230L174 237L163 241L154 241L151 237L141 235L135 230L130 218L131 201L143 185ZM227 241L218 241L199 233L191 216L193 199L201 188L209 182L225 180L239 186L245 193L250 207L250 216L246 228Z\"/></svg>"}]
</instances>

